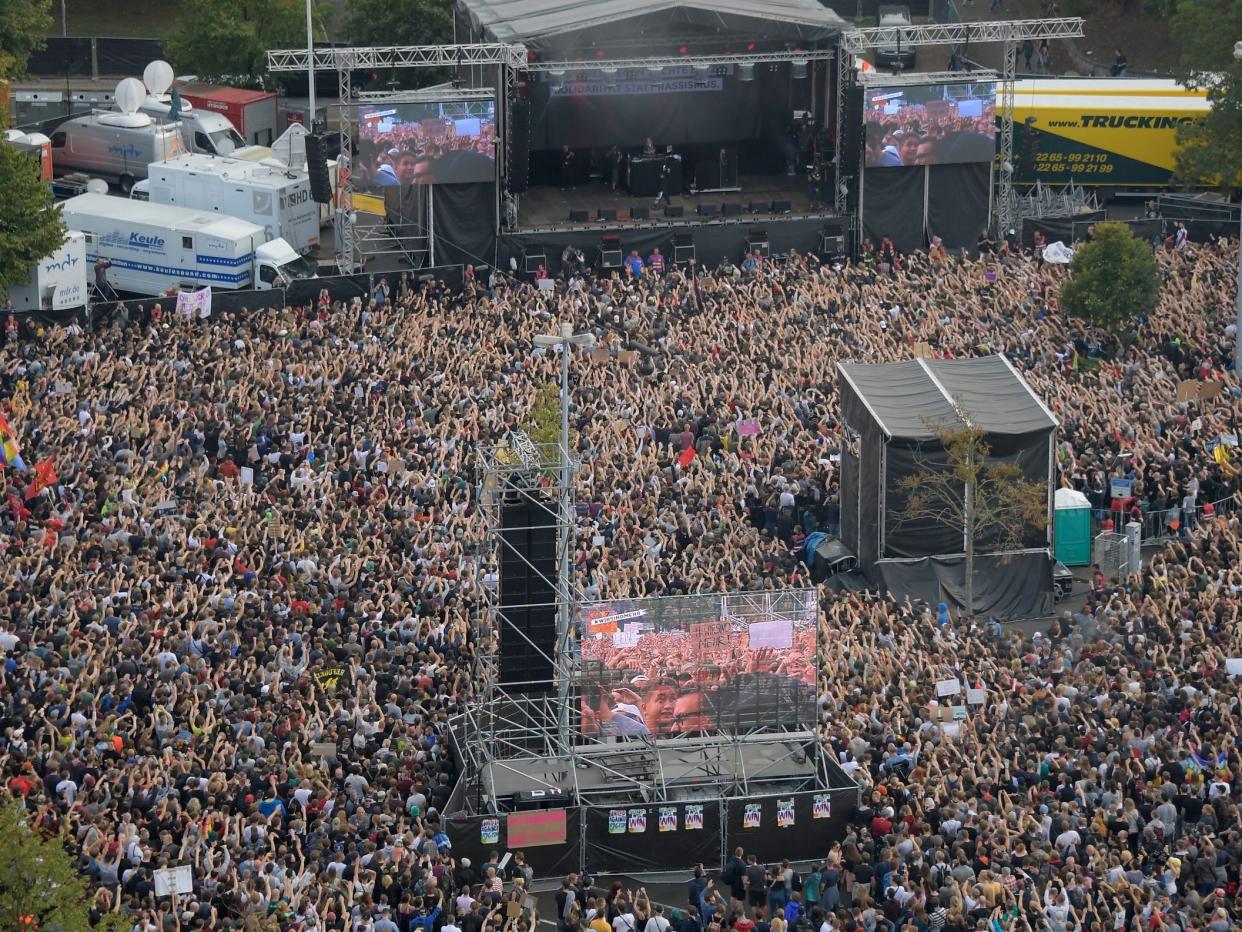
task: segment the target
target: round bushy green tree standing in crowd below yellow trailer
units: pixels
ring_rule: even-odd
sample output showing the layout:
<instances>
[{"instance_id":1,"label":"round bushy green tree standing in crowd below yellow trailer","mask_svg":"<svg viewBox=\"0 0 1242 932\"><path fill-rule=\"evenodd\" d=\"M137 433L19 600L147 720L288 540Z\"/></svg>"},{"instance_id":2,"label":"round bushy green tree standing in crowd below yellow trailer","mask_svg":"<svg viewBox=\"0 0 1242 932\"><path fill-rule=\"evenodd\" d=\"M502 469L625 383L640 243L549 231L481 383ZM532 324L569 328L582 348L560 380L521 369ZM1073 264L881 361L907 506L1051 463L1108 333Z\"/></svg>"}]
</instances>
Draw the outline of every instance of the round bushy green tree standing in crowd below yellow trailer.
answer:
<instances>
[{"instance_id":1,"label":"round bushy green tree standing in crowd below yellow trailer","mask_svg":"<svg viewBox=\"0 0 1242 932\"><path fill-rule=\"evenodd\" d=\"M1125 224L1095 224L1074 250L1061 307L1072 317L1110 331L1150 314L1160 298L1160 267L1151 246Z\"/></svg>"}]
</instances>

